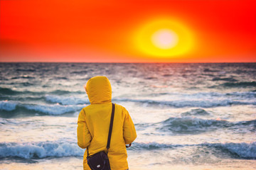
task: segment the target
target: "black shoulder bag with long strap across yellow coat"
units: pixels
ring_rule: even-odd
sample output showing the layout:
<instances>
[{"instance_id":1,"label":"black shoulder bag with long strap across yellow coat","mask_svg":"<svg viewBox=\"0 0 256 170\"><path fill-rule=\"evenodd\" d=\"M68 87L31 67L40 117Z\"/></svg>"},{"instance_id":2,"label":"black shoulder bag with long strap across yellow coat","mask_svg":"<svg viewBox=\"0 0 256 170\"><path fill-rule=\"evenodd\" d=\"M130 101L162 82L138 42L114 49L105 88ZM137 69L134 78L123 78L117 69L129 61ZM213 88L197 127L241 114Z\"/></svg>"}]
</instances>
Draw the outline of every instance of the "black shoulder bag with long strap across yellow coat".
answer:
<instances>
[{"instance_id":1,"label":"black shoulder bag with long strap across yellow coat","mask_svg":"<svg viewBox=\"0 0 256 170\"><path fill-rule=\"evenodd\" d=\"M109 135L107 137L107 153L110 149L110 140L111 140L111 133L113 127L113 120L114 120L114 103L112 103L112 114L110 120L110 130ZM92 170L111 170L110 169L110 161L107 157L107 153L105 151L97 152L96 154L92 154L89 156L89 151L87 147L87 164L90 166Z\"/></svg>"}]
</instances>

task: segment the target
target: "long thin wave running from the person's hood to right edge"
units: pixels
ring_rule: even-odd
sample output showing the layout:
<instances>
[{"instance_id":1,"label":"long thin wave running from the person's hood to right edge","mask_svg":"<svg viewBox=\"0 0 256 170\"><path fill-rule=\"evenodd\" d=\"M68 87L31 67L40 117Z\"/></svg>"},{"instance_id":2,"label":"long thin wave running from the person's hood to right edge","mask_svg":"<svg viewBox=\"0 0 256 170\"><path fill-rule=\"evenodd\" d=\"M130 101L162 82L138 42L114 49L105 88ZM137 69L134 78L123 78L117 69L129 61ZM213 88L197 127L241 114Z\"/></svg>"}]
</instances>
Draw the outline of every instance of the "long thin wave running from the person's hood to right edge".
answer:
<instances>
[{"instance_id":1,"label":"long thin wave running from the person's hood to right edge","mask_svg":"<svg viewBox=\"0 0 256 170\"><path fill-rule=\"evenodd\" d=\"M232 105L256 105L256 101L237 101L232 99L224 100L178 100L178 101L156 101L148 99L131 99L131 98L113 98L112 101L131 101L135 103L143 103L144 106L171 106L174 108L185 107L201 107L213 108L218 106L232 106Z\"/></svg>"}]
</instances>

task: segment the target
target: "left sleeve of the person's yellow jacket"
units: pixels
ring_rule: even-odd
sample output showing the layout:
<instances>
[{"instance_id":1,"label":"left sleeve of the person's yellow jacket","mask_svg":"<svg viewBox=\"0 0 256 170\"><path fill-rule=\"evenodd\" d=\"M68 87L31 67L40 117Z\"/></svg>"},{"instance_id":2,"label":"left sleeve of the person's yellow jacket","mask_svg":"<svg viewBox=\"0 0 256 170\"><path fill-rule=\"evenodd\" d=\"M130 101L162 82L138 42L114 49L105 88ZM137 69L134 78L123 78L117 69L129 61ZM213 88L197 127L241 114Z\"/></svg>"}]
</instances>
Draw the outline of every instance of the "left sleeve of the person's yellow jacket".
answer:
<instances>
[{"instance_id":1,"label":"left sleeve of the person's yellow jacket","mask_svg":"<svg viewBox=\"0 0 256 170\"><path fill-rule=\"evenodd\" d=\"M82 109L78 116L78 146L82 149L85 149L90 145L92 136L88 130L86 121L85 121L85 111Z\"/></svg>"}]
</instances>

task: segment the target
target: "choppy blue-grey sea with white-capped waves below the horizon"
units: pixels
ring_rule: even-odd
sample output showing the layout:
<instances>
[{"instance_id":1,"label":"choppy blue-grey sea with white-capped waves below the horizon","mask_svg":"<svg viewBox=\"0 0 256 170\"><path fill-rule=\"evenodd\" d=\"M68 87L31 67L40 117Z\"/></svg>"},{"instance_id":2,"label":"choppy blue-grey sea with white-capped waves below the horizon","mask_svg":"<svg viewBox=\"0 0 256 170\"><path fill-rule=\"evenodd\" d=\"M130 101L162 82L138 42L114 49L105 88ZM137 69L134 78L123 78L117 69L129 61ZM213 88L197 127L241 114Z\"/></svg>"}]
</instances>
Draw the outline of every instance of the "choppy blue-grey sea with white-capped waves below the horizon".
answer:
<instances>
[{"instance_id":1,"label":"choppy blue-grey sea with white-capped waves below the horizon","mask_svg":"<svg viewBox=\"0 0 256 170\"><path fill-rule=\"evenodd\" d=\"M82 169L77 121L95 76L137 130L129 170L256 169L256 63L3 62L0 169Z\"/></svg>"}]
</instances>

